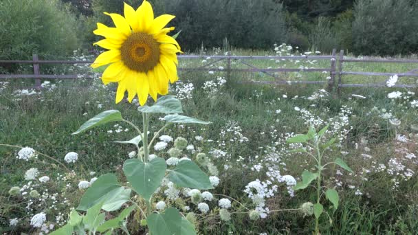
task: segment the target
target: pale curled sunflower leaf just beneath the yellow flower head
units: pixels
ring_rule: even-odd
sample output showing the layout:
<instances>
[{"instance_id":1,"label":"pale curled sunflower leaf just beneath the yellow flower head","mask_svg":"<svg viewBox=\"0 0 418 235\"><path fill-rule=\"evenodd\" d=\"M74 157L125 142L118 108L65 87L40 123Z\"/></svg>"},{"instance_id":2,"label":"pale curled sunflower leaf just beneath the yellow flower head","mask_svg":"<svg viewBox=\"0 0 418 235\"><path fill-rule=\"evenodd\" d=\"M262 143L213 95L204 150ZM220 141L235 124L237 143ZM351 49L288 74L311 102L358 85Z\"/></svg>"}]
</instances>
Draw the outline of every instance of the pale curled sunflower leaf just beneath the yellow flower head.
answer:
<instances>
[{"instance_id":1,"label":"pale curled sunflower leaf just beneath the yellow flower head","mask_svg":"<svg viewBox=\"0 0 418 235\"><path fill-rule=\"evenodd\" d=\"M181 102L175 96L162 96L153 106L144 105L138 107L138 111L142 113L183 113Z\"/></svg>"}]
</instances>

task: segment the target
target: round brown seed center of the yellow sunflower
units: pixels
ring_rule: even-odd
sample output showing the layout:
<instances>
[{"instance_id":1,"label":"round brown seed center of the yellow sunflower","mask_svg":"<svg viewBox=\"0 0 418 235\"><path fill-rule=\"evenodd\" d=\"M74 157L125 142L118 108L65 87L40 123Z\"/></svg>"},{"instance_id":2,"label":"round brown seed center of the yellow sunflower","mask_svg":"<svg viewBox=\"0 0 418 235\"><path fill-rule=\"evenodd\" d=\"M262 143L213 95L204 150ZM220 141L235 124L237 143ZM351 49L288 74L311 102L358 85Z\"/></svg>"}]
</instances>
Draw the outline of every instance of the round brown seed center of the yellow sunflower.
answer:
<instances>
[{"instance_id":1,"label":"round brown seed center of the yellow sunflower","mask_svg":"<svg viewBox=\"0 0 418 235\"><path fill-rule=\"evenodd\" d=\"M126 67L146 72L159 61L159 43L149 34L134 32L120 47L120 54Z\"/></svg>"}]
</instances>

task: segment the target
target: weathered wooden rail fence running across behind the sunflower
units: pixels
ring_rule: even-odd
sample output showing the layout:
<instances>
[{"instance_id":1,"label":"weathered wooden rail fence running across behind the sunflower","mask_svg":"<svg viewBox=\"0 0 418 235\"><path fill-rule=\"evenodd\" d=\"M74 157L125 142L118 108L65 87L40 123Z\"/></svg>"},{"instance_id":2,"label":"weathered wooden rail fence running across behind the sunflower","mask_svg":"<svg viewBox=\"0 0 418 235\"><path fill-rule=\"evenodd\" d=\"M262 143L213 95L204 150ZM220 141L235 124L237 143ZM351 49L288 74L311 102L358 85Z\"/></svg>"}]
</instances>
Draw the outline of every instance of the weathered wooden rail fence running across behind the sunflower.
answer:
<instances>
[{"instance_id":1,"label":"weathered wooden rail fence running across behind the sunflower","mask_svg":"<svg viewBox=\"0 0 418 235\"><path fill-rule=\"evenodd\" d=\"M330 56L192 56L192 55L181 55L178 56L179 60L201 60L210 58L210 62L201 65L200 67L179 67L178 70L184 73L189 73L191 71L223 71L226 73L227 78L230 78L232 72L259 72L267 76L275 78L274 81L257 81L252 83L259 84L272 84L272 85L283 85L283 84L324 84L328 83L329 90L333 90L336 85L336 80L338 77L337 91L340 92L342 87L385 87L386 82L377 83L377 84L345 84L342 82L342 76L344 74L360 75L360 76L393 76L397 75L402 76L413 76L418 77L418 69L413 69L411 71L406 71L405 73L377 73L377 72L365 72L365 71L343 71L343 63L417 63L418 60L399 60L399 59L358 59L358 58L344 58L344 50L340 51L340 55L336 55L336 49L333 49L333 52ZM245 68L234 68L232 66L232 60L238 62L241 65L245 65ZM329 67L325 68L259 68L252 65L249 60L329 60ZM210 67L215 63L220 61L226 61L226 68L217 68L214 69ZM91 64L91 60L39 60L38 55L34 54L32 60L0 60L0 66L5 64L31 64L33 65L34 73L33 74L0 74L1 79L14 79L14 78L27 78L35 80L35 87L41 87L41 79L77 79L79 75L49 75L41 74L39 66L41 64ZM338 63L338 66L337 66ZM277 72L324 72L329 73L331 79L328 81L306 81L306 80L283 80L276 76ZM83 77L88 78L88 77ZM394 87L417 87L417 85L401 85L397 84Z\"/></svg>"}]
</instances>

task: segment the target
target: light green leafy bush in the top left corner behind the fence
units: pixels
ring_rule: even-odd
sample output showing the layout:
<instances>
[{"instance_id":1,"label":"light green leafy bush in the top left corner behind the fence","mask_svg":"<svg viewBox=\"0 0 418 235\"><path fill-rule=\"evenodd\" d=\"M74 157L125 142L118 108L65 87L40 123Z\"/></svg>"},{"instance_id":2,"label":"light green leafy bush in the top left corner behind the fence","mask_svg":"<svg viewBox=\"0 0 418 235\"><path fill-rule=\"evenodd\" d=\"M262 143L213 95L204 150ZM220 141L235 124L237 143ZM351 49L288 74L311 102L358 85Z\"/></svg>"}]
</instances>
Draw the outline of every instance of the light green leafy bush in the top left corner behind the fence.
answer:
<instances>
[{"instance_id":1,"label":"light green leafy bush in the top left corner behind the fence","mask_svg":"<svg viewBox=\"0 0 418 235\"><path fill-rule=\"evenodd\" d=\"M0 2L0 59L65 56L78 48L76 17L55 0Z\"/></svg>"}]
</instances>

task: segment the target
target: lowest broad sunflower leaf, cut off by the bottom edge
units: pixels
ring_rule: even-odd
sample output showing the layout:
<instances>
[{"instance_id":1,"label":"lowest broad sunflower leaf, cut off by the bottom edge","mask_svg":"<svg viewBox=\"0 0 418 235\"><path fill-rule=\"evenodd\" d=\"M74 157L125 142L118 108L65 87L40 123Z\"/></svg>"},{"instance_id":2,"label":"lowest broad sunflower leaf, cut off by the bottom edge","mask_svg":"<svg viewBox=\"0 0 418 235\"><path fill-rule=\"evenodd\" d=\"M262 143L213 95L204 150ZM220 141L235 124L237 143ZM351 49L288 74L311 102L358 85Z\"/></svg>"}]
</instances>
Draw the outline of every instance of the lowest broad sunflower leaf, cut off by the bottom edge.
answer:
<instances>
[{"instance_id":1,"label":"lowest broad sunflower leaf, cut off by the bottom edge","mask_svg":"<svg viewBox=\"0 0 418 235\"><path fill-rule=\"evenodd\" d=\"M164 213L153 213L146 218L151 234L181 234L181 215L175 208L167 208Z\"/></svg>"}]
</instances>

